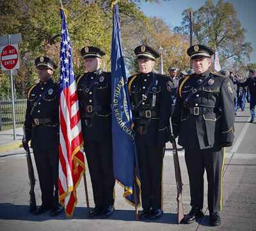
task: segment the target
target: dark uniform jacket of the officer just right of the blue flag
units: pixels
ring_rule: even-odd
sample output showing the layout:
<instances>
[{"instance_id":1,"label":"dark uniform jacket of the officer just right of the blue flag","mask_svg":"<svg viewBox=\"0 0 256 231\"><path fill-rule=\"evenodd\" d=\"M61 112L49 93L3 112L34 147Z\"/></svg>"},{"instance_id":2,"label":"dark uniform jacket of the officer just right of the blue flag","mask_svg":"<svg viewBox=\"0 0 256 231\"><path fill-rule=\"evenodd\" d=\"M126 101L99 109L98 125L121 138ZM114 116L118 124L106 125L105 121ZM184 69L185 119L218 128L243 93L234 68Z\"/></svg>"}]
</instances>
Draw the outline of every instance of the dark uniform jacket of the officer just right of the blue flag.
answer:
<instances>
[{"instance_id":1,"label":"dark uniform jacket of the officer just right of the blue flag","mask_svg":"<svg viewBox=\"0 0 256 231\"><path fill-rule=\"evenodd\" d=\"M164 145L170 135L170 115L172 112L171 86L166 75L156 75L156 103L152 106L154 89L150 89L147 99L143 100L141 105L133 110L134 130L138 133L138 127L141 123L147 124L147 133L141 135L146 145ZM140 73L129 77L128 89L131 98L132 107L145 96L148 87L153 81L153 72ZM140 134L139 134L140 135Z\"/></svg>"}]
</instances>

